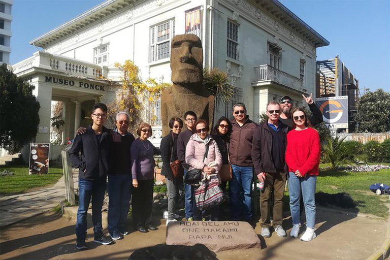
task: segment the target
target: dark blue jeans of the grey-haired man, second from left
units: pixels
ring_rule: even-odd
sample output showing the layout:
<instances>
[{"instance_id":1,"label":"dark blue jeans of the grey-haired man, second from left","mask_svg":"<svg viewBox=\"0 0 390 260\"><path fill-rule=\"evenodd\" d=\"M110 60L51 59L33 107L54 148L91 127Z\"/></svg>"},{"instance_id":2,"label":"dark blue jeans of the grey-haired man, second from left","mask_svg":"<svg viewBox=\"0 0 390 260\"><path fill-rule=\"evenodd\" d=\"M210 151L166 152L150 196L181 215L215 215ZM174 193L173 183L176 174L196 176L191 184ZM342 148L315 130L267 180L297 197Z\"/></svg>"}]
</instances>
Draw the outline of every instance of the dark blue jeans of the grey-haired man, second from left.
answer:
<instances>
[{"instance_id":1,"label":"dark blue jeans of the grey-haired man, second from left","mask_svg":"<svg viewBox=\"0 0 390 260\"><path fill-rule=\"evenodd\" d=\"M131 174L108 175L108 232L123 230L126 226L130 198L132 196Z\"/></svg>"}]
</instances>

